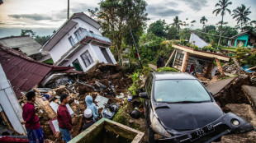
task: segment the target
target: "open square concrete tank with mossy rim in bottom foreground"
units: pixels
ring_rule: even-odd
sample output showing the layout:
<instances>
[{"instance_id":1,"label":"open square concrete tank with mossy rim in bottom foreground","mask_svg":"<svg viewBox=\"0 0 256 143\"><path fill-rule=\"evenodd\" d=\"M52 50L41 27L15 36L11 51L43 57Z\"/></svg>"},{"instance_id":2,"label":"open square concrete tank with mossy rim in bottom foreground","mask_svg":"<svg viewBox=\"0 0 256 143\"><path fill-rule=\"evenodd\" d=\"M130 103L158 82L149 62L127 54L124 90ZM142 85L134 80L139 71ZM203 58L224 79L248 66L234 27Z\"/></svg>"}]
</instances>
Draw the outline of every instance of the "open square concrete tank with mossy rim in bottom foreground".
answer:
<instances>
[{"instance_id":1,"label":"open square concrete tank with mossy rim in bottom foreground","mask_svg":"<svg viewBox=\"0 0 256 143\"><path fill-rule=\"evenodd\" d=\"M126 127L118 122L102 118L87 130L73 138L69 143L79 142L132 142L140 143L145 133Z\"/></svg>"}]
</instances>

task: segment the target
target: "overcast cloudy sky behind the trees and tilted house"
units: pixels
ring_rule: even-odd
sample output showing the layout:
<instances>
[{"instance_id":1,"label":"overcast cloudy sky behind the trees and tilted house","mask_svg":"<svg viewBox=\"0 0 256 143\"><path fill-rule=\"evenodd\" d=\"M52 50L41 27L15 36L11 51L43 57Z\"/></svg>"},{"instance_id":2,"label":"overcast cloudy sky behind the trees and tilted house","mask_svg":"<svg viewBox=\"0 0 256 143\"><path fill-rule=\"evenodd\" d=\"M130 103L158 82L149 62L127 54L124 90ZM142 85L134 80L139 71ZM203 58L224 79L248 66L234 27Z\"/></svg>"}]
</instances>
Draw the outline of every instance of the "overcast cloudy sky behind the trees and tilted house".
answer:
<instances>
[{"instance_id":1,"label":"overcast cloudy sky behind the trees and tilted house","mask_svg":"<svg viewBox=\"0 0 256 143\"><path fill-rule=\"evenodd\" d=\"M70 0L70 15L73 12L84 12L88 9L98 7L100 0ZM185 21L196 20L192 29L201 28L201 16L206 16L206 25L216 25L221 20L220 15L212 14L216 9L218 0L146 0L148 3L147 13L149 21L147 24L159 19L168 24L173 22L174 16ZM233 2L228 8L232 11L241 4L251 7L249 15L251 20L256 20L256 0L231 0ZM57 30L67 18L67 0L3 0L0 5L0 38L20 35L21 29L32 29L37 35L51 35ZM228 25L235 26L236 21L227 13L224 21Z\"/></svg>"}]
</instances>

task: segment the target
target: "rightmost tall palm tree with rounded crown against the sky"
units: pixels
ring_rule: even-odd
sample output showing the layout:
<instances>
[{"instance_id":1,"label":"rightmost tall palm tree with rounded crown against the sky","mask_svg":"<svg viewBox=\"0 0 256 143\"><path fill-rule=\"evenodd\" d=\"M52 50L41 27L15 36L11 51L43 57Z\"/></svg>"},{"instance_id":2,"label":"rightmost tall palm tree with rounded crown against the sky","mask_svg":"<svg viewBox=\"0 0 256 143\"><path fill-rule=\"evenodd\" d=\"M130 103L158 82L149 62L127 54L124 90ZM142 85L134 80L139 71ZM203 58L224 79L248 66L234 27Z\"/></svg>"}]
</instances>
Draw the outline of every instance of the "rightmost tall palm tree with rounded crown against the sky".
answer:
<instances>
[{"instance_id":1,"label":"rightmost tall palm tree with rounded crown against the sky","mask_svg":"<svg viewBox=\"0 0 256 143\"><path fill-rule=\"evenodd\" d=\"M249 7L250 8L250 7ZM237 21L237 24L240 23L241 25L241 30L243 31L243 24L246 24L247 21L250 21L251 19L249 19L249 14L252 13L249 11L249 8L246 9L246 7L244 6L244 4L242 4L241 7L236 7L235 10L233 10L233 19L236 18L235 21Z\"/></svg>"}]
</instances>

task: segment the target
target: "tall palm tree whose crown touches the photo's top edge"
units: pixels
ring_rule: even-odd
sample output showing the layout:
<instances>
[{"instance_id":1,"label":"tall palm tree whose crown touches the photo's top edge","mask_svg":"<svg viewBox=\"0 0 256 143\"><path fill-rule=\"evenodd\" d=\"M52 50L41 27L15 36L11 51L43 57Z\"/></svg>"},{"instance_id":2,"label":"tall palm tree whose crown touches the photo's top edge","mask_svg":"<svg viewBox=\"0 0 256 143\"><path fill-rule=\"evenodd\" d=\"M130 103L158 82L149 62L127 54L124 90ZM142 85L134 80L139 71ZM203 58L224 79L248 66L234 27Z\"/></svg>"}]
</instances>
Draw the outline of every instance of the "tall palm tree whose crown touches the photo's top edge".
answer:
<instances>
[{"instance_id":1,"label":"tall palm tree whose crown touches the photo's top edge","mask_svg":"<svg viewBox=\"0 0 256 143\"><path fill-rule=\"evenodd\" d=\"M219 0L218 3L216 3L215 7L220 7L220 8L217 8L216 10L214 10L212 13L215 13L216 12L216 16L220 13L221 15L221 27L222 27L222 24L223 24L223 17L225 15L225 11L231 13L230 9L228 9L227 7L229 5L231 5L232 2L229 2L229 0Z\"/></svg>"}]
</instances>

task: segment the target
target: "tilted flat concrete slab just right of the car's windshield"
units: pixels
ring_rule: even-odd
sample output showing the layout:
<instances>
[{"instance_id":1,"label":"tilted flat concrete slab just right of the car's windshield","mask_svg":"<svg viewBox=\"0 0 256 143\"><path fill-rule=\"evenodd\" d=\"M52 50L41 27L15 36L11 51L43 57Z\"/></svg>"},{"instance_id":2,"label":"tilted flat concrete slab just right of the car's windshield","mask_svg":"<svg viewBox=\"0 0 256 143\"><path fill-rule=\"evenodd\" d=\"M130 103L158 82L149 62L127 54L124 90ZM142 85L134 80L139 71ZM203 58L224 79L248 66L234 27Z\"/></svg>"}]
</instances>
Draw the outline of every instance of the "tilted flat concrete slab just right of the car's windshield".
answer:
<instances>
[{"instance_id":1,"label":"tilted flat concrete slab just right of the car's windshield","mask_svg":"<svg viewBox=\"0 0 256 143\"><path fill-rule=\"evenodd\" d=\"M216 95L220 92L226 85L228 85L231 81L233 81L235 77L230 77L224 80L213 82L206 86L206 89L209 90L212 95Z\"/></svg>"}]
</instances>

